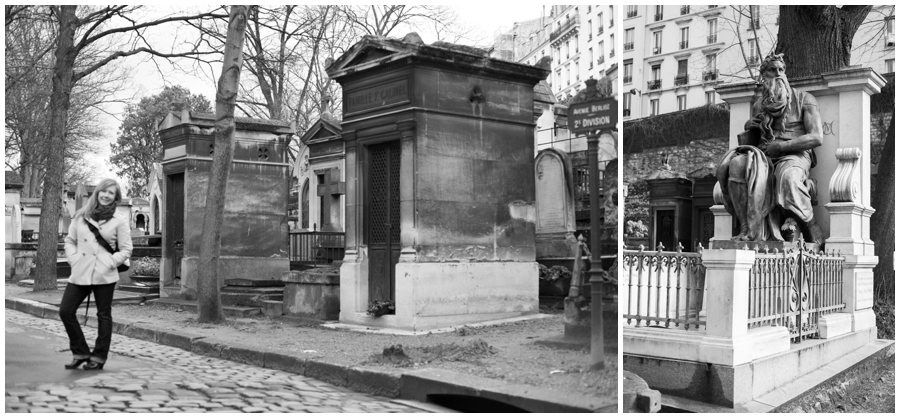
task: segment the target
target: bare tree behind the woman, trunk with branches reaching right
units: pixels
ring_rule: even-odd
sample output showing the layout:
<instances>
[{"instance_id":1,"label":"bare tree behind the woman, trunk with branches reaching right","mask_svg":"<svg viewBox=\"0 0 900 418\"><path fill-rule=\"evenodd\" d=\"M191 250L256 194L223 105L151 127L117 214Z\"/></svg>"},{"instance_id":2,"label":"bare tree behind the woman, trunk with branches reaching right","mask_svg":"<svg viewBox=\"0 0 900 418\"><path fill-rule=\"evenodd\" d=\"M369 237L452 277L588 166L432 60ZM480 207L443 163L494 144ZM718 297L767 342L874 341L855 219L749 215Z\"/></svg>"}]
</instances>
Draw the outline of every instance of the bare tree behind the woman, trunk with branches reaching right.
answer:
<instances>
[{"instance_id":1,"label":"bare tree behind the woman, trunk with branches reaching right","mask_svg":"<svg viewBox=\"0 0 900 418\"><path fill-rule=\"evenodd\" d=\"M50 117L48 118L49 143L46 164L48 173L65 172L66 127L72 104L72 91L79 80L104 68L114 60L136 54L174 58L197 57L215 53L214 51L201 51L202 41L200 40L183 51L161 52L154 49L144 37L144 32L148 28L217 17L213 12L171 15L140 22L136 17L136 12L141 9L139 6L98 8L66 5L49 6L49 9L56 22L57 35L54 51L56 60L53 65L50 94ZM81 15L78 13L79 10ZM121 39L122 36L129 35L130 39ZM98 54L97 59L91 62L78 62L80 55L101 45L120 45L125 48L109 51L103 55ZM115 48L113 47L113 49ZM78 63L77 66L76 63ZM57 223L60 215L58 198L62 193L62 181L61 175L49 175L44 178L34 291L56 289Z\"/></svg>"}]
</instances>

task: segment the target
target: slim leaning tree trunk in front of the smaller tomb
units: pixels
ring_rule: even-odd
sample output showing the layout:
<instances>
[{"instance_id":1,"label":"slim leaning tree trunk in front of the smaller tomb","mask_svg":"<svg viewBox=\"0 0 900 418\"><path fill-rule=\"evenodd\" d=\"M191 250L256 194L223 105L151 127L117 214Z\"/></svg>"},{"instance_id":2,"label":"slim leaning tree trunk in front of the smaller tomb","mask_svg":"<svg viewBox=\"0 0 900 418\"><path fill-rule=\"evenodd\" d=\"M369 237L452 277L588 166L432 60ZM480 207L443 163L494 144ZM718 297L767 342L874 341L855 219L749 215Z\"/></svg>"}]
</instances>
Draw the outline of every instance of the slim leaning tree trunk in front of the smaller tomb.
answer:
<instances>
[{"instance_id":1,"label":"slim leaning tree trunk in front of the smaller tomb","mask_svg":"<svg viewBox=\"0 0 900 418\"><path fill-rule=\"evenodd\" d=\"M200 240L197 283L198 322L222 322L225 314L219 298L219 252L225 189L234 157L234 107L243 65L244 29L249 6L231 6L222 75L216 90L216 137L212 168L206 189L206 212Z\"/></svg>"}]
</instances>

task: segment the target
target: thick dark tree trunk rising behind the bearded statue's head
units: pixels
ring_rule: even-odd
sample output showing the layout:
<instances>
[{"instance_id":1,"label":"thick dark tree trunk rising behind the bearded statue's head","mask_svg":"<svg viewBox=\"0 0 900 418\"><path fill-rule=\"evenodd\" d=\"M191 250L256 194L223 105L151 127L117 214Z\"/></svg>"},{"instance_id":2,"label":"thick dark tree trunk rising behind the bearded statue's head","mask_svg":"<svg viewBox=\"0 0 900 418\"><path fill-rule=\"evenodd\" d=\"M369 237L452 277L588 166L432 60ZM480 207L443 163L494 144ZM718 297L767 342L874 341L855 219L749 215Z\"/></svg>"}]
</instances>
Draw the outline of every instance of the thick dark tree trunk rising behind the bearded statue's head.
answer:
<instances>
[{"instance_id":1,"label":"thick dark tree trunk rising behind the bearded statue's head","mask_svg":"<svg viewBox=\"0 0 900 418\"><path fill-rule=\"evenodd\" d=\"M872 6L781 6L775 52L784 53L788 79L850 65L853 35L870 10Z\"/></svg>"}]
</instances>

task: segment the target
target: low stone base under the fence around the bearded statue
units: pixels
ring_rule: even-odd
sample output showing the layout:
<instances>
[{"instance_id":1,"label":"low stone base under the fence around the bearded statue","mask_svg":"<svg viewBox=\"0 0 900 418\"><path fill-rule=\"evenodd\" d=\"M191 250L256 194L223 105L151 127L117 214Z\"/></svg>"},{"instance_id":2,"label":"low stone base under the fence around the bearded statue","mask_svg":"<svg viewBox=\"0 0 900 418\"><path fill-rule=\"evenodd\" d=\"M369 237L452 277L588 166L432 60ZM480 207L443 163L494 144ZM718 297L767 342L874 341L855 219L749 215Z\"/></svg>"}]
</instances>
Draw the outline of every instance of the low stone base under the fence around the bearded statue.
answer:
<instances>
[{"instance_id":1,"label":"low stone base under the fence around the bearded statue","mask_svg":"<svg viewBox=\"0 0 900 418\"><path fill-rule=\"evenodd\" d=\"M828 367L875 341L875 337L876 330L871 328L828 340L807 340L792 344L788 351L736 366L631 354L626 338L628 349L622 368L637 374L663 394L733 408Z\"/></svg>"}]
</instances>

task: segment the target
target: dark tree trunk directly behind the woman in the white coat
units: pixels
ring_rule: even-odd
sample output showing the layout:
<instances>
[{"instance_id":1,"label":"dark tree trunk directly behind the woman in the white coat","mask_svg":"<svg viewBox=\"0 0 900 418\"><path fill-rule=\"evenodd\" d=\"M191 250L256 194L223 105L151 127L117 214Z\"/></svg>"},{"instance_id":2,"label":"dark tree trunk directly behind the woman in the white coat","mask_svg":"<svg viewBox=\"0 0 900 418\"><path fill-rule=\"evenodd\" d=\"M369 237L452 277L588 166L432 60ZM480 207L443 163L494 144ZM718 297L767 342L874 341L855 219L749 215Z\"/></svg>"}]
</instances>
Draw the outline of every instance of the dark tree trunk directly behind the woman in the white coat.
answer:
<instances>
[{"instance_id":1,"label":"dark tree trunk directly behind the woman in the white coat","mask_svg":"<svg viewBox=\"0 0 900 418\"><path fill-rule=\"evenodd\" d=\"M76 6L54 7L59 20L56 63L53 69L53 90L50 95L50 141L47 150L47 171L44 177L41 202L40 238L38 240L35 292L56 289L56 248L59 239L60 197L66 146L66 121L69 117L69 97L74 86L75 17Z\"/></svg>"}]
</instances>

